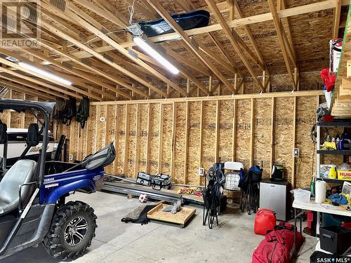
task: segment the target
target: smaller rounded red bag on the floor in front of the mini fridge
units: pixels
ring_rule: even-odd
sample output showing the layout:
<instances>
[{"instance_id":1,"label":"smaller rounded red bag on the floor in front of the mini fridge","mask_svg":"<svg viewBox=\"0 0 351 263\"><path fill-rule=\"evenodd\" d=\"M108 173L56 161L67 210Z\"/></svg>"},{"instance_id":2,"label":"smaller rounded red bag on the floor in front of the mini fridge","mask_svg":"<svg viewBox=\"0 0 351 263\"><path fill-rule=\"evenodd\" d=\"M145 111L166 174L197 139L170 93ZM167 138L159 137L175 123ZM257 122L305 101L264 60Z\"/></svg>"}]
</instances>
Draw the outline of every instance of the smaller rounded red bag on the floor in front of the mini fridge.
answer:
<instances>
[{"instance_id":1,"label":"smaller rounded red bag on the floor in front of the mini fridge","mask_svg":"<svg viewBox=\"0 0 351 263\"><path fill-rule=\"evenodd\" d=\"M253 231L258 235L265 235L267 231L273 230L277 220L275 213L267 208L258 209Z\"/></svg>"}]
</instances>

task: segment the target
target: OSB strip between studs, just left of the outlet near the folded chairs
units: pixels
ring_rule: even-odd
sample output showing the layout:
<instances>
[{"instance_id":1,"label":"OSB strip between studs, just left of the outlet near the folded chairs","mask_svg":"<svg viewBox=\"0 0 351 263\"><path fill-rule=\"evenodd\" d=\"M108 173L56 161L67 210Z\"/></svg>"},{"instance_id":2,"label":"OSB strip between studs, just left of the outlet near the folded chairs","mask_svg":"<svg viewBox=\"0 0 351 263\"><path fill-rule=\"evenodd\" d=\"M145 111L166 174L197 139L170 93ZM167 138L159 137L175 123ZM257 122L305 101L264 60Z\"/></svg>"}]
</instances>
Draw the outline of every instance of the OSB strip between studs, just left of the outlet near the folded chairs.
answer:
<instances>
[{"instance_id":1,"label":"OSB strip between studs, just left of the outlet near the folded chairs","mask_svg":"<svg viewBox=\"0 0 351 263\"><path fill-rule=\"evenodd\" d=\"M200 163L201 102L190 102L189 105L189 139L187 158L187 183L199 184L198 168Z\"/></svg>"}]
</instances>

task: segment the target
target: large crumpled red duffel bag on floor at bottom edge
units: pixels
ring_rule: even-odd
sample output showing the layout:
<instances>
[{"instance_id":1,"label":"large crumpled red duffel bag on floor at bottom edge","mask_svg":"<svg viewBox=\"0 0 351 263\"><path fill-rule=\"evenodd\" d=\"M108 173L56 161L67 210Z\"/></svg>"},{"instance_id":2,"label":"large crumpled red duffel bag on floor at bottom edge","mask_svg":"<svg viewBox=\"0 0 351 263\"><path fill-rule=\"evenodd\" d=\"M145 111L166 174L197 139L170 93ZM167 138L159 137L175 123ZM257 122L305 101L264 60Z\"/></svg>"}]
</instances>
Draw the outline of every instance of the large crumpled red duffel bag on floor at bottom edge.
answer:
<instances>
[{"instance_id":1,"label":"large crumpled red duffel bag on floor at bottom edge","mask_svg":"<svg viewBox=\"0 0 351 263\"><path fill-rule=\"evenodd\" d=\"M303 235L296 231L296 250L303 244ZM293 225L281 223L265 235L253 252L252 263L289 263L293 255Z\"/></svg>"}]
</instances>

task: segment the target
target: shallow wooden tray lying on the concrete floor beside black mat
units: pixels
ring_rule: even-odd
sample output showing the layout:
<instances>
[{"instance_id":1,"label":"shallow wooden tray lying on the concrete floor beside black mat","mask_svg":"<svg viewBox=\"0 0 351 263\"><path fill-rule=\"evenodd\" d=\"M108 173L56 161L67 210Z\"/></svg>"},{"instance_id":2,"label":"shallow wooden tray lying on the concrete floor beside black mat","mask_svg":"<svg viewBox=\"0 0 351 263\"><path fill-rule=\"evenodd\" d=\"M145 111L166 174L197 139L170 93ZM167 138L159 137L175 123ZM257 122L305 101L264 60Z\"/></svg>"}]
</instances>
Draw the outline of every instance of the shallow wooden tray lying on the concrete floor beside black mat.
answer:
<instances>
[{"instance_id":1,"label":"shallow wooden tray lying on the concrete floor beside black mat","mask_svg":"<svg viewBox=\"0 0 351 263\"><path fill-rule=\"evenodd\" d=\"M171 212L162 211L166 207L171 207L172 205L166 205L164 203L160 203L159 205L152 208L147 213L147 218L150 220L159 220L163 222L173 223L173 224L186 224L188 220L194 215L196 212L195 208L180 208L176 214L172 214Z\"/></svg>"}]
</instances>

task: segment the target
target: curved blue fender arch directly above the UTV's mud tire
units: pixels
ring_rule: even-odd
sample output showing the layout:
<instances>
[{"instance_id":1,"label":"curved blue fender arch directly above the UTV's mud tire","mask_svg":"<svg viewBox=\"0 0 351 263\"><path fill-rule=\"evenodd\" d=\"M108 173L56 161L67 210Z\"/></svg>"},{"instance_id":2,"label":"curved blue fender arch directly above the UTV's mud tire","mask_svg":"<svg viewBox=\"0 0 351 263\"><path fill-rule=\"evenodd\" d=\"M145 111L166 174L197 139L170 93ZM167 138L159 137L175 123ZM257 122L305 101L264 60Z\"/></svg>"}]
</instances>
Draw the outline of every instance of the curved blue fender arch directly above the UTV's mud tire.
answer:
<instances>
[{"instance_id":1,"label":"curved blue fender arch directly above the UTV's mud tire","mask_svg":"<svg viewBox=\"0 0 351 263\"><path fill-rule=\"evenodd\" d=\"M53 189L48 196L45 197L45 203L56 203L58 199L68 194L70 191L77 191L78 189L89 189L89 191L95 191L96 187L93 180L82 179L79 181L64 184L61 187Z\"/></svg>"}]
</instances>

